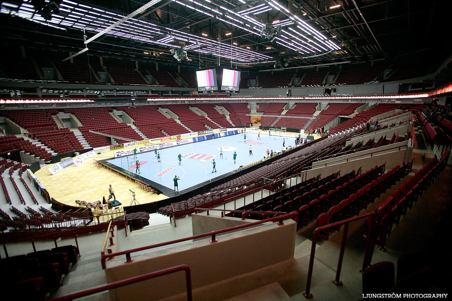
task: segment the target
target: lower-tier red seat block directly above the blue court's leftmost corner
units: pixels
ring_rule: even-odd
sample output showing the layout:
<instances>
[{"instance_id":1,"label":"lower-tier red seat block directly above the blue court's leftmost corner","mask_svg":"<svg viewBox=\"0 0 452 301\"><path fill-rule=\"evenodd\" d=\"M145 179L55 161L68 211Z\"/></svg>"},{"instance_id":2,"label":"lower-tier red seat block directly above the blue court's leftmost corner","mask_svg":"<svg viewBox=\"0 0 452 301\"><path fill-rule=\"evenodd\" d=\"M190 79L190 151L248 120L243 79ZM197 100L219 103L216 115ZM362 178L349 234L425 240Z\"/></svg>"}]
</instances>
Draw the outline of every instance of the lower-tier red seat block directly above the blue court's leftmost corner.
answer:
<instances>
[{"instance_id":1,"label":"lower-tier red seat block directly above the blue court's leftmost corner","mask_svg":"<svg viewBox=\"0 0 452 301\"><path fill-rule=\"evenodd\" d=\"M111 134L119 137L124 137L134 140L142 140L141 136L135 130L124 122L118 122L109 112L113 109L109 107L102 108L66 108L65 113L75 115L80 120L83 126L79 127L88 143L97 148L100 146L111 145L110 138L99 134L90 133L89 130L99 131L105 134ZM117 139L116 142L127 142Z\"/></svg>"}]
</instances>

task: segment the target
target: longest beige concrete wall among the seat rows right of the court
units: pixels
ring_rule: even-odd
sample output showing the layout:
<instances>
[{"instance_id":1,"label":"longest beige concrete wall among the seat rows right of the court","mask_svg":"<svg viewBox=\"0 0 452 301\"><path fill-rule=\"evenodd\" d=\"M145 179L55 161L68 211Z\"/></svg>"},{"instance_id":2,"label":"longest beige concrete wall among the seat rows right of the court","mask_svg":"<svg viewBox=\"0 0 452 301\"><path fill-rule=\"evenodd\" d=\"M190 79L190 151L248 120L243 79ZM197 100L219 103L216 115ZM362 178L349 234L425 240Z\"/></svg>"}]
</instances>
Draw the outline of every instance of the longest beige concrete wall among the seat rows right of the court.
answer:
<instances>
[{"instance_id":1,"label":"longest beige concrete wall among the seat rows right of the court","mask_svg":"<svg viewBox=\"0 0 452 301\"><path fill-rule=\"evenodd\" d=\"M405 143L407 144L407 141L400 142L400 144ZM391 146L395 146L395 144L391 144ZM372 151L372 150L371 150ZM373 149L375 151L375 148ZM380 166L381 164L386 162L386 171L389 169L392 169L393 167L396 167L397 165L402 165L403 161L408 162L411 160L411 157L413 155L413 148L408 147L405 149L395 149L395 150L389 150L387 152L381 152L377 153L375 155L363 155L359 156L353 159L350 159L348 162L346 160L342 160L339 162L332 162L330 164L327 164L326 167L318 167L313 168L307 171L306 178L309 179L313 176L321 175L322 178L325 176L329 176L332 173L336 173L340 171L341 175L344 175L350 171L358 170L359 167L362 167L362 171L368 171L369 169L375 167L376 165ZM353 154L352 154L353 156ZM341 156L337 158L333 158L332 160L338 160L342 159L343 157L350 157L350 155L347 156ZM331 160L331 159L329 159ZM316 165L327 163L325 162L327 160L322 160L319 162L316 162Z\"/></svg>"}]
</instances>

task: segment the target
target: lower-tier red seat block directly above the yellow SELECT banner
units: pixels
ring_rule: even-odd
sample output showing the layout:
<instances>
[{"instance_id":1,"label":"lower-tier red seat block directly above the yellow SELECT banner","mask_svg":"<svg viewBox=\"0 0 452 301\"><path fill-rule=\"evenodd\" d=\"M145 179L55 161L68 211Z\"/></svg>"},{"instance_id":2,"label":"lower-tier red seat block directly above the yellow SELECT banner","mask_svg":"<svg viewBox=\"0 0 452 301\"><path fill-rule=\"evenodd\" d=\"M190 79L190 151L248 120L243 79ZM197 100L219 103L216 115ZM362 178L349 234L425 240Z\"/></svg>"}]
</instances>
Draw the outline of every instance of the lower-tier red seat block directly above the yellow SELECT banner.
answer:
<instances>
[{"instance_id":1,"label":"lower-tier red seat block directly above the yellow SELECT banner","mask_svg":"<svg viewBox=\"0 0 452 301\"><path fill-rule=\"evenodd\" d=\"M132 117L133 124L149 139L165 137L167 135L185 134L189 131L177 123L173 118L168 118L158 111L158 106L143 106L139 108L117 107Z\"/></svg>"}]
</instances>

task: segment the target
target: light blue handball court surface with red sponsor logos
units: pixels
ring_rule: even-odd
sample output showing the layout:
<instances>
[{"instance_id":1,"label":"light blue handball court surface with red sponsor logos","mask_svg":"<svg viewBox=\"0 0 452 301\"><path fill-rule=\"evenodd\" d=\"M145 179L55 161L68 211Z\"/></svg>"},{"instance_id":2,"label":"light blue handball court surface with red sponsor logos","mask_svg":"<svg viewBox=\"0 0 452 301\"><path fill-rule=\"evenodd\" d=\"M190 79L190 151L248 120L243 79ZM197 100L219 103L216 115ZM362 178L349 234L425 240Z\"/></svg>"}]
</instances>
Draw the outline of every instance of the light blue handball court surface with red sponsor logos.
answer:
<instances>
[{"instance_id":1,"label":"light blue handball court surface with red sponsor logos","mask_svg":"<svg viewBox=\"0 0 452 301\"><path fill-rule=\"evenodd\" d=\"M273 152L282 149L282 139L279 136L242 134L208 139L201 142L182 144L171 148L160 149L160 161L157 161L154 152L137 153L133 156L118 157L106 160L127 174L136 174L137 178L146 178L160 185L174 189L174 176L179 176L179 191L188 189L202 182L212 180L229 172L236 171L241 165L245 166L267 156L267 149ZM295 146L295 139L285 137L285 146ZM252 145L253 155L250 155ZM223 149L223 159L220 157L220 148ZM237 153L234 164L233 153ZM179 166L178 155L182 155ZM217 172L213 172L212 159L215 159ZM140 164L137 171L136 160Z\"/></svg>"}]
</instances>

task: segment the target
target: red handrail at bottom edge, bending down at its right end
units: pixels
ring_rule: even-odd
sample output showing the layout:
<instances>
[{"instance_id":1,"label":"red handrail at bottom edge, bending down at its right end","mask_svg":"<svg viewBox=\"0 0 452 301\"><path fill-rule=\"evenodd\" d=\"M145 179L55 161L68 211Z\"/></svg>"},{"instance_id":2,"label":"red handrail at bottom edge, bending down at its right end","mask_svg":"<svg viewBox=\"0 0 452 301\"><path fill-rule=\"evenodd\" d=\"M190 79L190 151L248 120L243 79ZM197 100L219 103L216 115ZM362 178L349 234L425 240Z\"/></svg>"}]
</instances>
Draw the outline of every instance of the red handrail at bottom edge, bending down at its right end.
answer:
<instances>
[{"instance_id":1,"label":"red handrail at bottom edge, bending down at its right end","mask_svg":"<svg viewBox=\"0 0 452 301\"><path fill-rule=\"evenodd\" d=\"M117 287L123 287L125 285L128 284L132 284L132 283L136 283L136 282L141 282L147 279L151 279L151 278L156 278L156 277L160 277L166 274L170 274L170 273L175 273L175 272L179 272L179 271L185 271L185 282L187 283L187 300L188 301L192 301L193 300L193 296L192 296L192 276L190 273L190 267L186 264L181 264L181 265L177 265L168 269L162 269L156 272L152 272L152 273L147 273L147 274L143 274L140 276L136 276L136 277L131 277L131 278L127 278L127 279L123 279L123 280L119 280L119 281L115 281L112 283L108 283L108 284L104 284L104 285L99 285L97 287L92 287L80 292L75 292L66 296L61 296L61 297L57 297L55 299L49 300L49 301L72 301L76 298L80 298L83 296L89 296L98 292L104 292L106 290L110 290L113 288L117 288Z\"/></svg>"}]
</instances>

